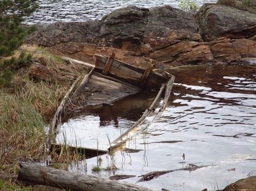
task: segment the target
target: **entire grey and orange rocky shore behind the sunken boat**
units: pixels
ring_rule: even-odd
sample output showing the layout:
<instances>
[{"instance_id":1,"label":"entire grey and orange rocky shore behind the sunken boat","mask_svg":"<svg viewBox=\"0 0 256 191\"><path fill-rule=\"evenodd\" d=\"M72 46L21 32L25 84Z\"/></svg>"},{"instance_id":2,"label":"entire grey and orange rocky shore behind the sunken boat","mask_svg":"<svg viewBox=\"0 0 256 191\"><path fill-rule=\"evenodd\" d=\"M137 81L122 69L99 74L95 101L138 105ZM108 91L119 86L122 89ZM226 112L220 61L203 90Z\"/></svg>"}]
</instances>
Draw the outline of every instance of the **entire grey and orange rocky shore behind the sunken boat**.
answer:
<instances>
[{"instance_id":1,"label":"entire grey and orange rocky shore behind the sunken boat","mask_svg":"<svg viewBox=\"0 0 256 191\"><path fill-rule=\"evenodd\" d=\"M256 57L256 11L204 4L195 16L168 5L129 6L102 20L38 26L26 43L93 63L95 53L140 67L229 63Z\"/></svg>"}]
</instances>

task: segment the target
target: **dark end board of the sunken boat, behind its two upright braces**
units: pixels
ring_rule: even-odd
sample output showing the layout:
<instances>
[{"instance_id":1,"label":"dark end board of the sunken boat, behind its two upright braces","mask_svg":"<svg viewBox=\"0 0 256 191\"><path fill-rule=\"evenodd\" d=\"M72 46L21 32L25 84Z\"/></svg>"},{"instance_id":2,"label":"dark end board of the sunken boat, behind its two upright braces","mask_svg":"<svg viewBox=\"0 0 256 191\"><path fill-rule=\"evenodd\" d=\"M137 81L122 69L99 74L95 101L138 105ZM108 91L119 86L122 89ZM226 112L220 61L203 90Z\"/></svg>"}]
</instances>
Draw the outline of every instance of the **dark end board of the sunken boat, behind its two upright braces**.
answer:
<instances>
[{"instance_id":1,"label":"dark end board of the sunken boat, behind its two upright braces","mask_svg":"<svg viewBox=\"0 0 256 191\"><path fill-rule=\"evenodd\" d=\"M95 56L95 69L101 73L105 67L105 63L108 58L100 55ZM132 85L139 86L144 72L144 69L134 67L133 65L118 61L117 59L113 59L113 63L107 75L114 77L115 79L130 83ZM161 74L156 74L156 72L152 71L148 76L148 80L146 81L146 87L159 87L159 85L166 82L166 80L167 79Z\"/></svg>"}]
</instances>

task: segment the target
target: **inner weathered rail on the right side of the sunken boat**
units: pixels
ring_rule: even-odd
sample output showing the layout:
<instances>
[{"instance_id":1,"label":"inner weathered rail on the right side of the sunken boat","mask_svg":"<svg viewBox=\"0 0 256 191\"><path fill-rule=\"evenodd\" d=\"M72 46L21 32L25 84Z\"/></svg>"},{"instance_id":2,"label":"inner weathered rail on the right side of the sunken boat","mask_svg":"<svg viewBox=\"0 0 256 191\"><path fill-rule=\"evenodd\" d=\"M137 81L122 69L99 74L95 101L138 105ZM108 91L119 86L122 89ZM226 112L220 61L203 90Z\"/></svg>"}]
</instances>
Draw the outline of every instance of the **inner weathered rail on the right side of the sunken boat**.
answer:
<instances>
[{"instance_id":1,"label":"inner weathered rail on the right side of the sunken boat","mask_svg":"<svg viewBox=\"0 0 256 191\"><path fill-rule=\"evenodd\" d=\"M149 116L151 114L151 112L153 111L153 109L156 108L156 106L158 105L158 103L160 102L162 93L164 91L164 87L166 86L165 83L162 84L156 98L153 100L153 103L150 105L150 107L148 109L146 109L146 111L144 112L144 114L139 118L138 121L136 121L132 127L130 127L129 129L126 130L126 132L124 132L122 135L118 136L117 139L115 139L112 143L113 143L113 148L115 148L116 144L118 144L118 141L121 141L123 144L123 138L125 138L127 136L128 133L130 133L132 130L134 130L136 127L138 127L141 123L143 123L146 119L147 116ZM125 140L124 140L125 141ZM120 145L120 144L118 144ZM112 148L110 148L112 149Z\"/></svg>"}]
</instances>

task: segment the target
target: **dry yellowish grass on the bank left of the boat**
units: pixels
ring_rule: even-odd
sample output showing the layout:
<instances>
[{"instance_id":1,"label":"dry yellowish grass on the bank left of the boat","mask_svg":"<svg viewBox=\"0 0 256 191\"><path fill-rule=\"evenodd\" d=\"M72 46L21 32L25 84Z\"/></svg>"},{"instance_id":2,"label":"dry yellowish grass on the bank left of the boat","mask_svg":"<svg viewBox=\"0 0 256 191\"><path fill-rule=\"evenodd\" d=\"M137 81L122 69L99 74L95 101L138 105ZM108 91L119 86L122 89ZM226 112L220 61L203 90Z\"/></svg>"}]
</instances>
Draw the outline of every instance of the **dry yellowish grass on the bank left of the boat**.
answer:
<instances>
[{"instance_id":1,"label":"dry yellowish grass on the bank left of the boat","mask_svg":"<svg viewBox=\"0 0 256 191\"><path fill-rule=\"evenodd\" d=\"M24 50L32 53L33 60L43 61L56 75L64 77L61 81L35 80L29 74L29 67L24 67L15 71L12 88L0 89L0 174L16 174L20 160L47 158L45 127L73 80L86 71L37 46L23 45L14 55ZM76 158L67 153L65 157L54 157L58 162Z\"/></svg>"}]
</instances>

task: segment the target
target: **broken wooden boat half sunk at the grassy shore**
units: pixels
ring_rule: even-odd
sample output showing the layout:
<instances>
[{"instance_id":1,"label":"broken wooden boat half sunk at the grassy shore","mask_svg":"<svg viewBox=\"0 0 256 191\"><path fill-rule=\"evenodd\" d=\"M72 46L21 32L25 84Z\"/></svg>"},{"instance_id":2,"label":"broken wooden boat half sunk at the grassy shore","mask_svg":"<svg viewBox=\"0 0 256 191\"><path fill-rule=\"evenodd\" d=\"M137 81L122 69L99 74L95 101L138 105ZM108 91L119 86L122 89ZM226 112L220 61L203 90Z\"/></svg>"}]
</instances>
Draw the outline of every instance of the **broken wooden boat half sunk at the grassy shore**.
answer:
<instances>
[{"instance_id":1,"label":"broken wooden boat half sunk at the grassy shore","mask_svg":"<svg viewBox=\"0 0 256 191\"><path fill-rule=\"evenodd\" d=\"M115 59L115 53L112 53L110 57L95 55L95 58L95 65L67 57L64 58L73 64L87 65L91 70L84 76L82 82L77 87L76 91L73 92L72 96L70 96L70 92L72 92L72 89L70 89L69 94L62 100L53 118L53 122L50 125L48 141L49 147L51 147L52 150L61 151L62 145L56 144L54 141L56 121L61 121L58 119L65 108L76 105L74 104L76 97L86 97L86 103L79 106L81 106L83 110L87 110L115 104L114 102L116 100L144 91L145 89L159 88L158 94L150 107L145 110L143 115L132 127L128 128L126 132L123 132L110 144L109 150L122 148L122 145L128 140L128 134L134 132L141 124L143 124L146 117L157 107L160 109L153 118L153 121L157 120L166 108L175 79L172 74L167 72L162 74L157 73L153 70L152 65L148 65L143 69L124 63ZM153 61L151 61L151 63L152 62ZM160 105L161 100L163 101ZM75 147L72 146L71 148L71 150L75 149ZM87 157L93 157L93 153L95 153L96 156L97 154L105 154L107 152L105 150L98 150L98 148L95 150L95 148L87 147L79 147L77 148L77 151L85 154ZM87 153L89 153L89 155L87 155Z\"/></svg>"}]
</instances>

